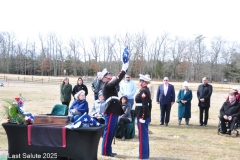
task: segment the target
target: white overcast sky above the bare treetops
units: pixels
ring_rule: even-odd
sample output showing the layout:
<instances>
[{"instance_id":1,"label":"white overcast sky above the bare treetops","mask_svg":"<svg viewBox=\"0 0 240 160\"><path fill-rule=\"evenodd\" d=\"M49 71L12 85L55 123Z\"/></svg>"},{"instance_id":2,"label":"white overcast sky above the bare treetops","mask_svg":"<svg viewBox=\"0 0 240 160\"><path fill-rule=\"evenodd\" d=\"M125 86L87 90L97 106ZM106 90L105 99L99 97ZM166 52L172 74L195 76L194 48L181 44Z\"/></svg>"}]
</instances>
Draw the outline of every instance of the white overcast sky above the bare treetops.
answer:
<instances>
[{"instance_id":1,"label":"white overcast sky above the bare treetops","mask_svg":"<svg viewBox=\"0 0 240 160\"><path fill-rule=\"evenodd\" d=\"M112 36L144 31L150 37L240 42L239 0L0 0L0 32L19 40L55 32L72 36Z\"/></svg>"}]
</instances>

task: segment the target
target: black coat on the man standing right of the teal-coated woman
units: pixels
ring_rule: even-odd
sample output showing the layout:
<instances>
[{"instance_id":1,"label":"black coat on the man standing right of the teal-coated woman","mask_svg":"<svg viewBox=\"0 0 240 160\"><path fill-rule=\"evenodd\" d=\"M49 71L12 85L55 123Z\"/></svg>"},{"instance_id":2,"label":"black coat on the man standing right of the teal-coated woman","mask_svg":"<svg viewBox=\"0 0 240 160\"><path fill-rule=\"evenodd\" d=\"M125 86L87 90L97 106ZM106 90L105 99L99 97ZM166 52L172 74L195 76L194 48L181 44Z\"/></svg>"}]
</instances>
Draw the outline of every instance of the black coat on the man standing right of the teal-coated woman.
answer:
<instances>
[{"instance_id":1,"label":"black coat on the man standing right of the teal-coated woman","mask_svg":"<svg viewBox=\"0 0 240 160\"><path fill-rule=\"evenodd\" d=\"M203 84L200 84L197 90L198 106L209 108L211 95L212 95L212 85L206 84L206 86L204 86ZM201 98L204 98L205 101L200 102Z\"/></svg>"}]
</instances>

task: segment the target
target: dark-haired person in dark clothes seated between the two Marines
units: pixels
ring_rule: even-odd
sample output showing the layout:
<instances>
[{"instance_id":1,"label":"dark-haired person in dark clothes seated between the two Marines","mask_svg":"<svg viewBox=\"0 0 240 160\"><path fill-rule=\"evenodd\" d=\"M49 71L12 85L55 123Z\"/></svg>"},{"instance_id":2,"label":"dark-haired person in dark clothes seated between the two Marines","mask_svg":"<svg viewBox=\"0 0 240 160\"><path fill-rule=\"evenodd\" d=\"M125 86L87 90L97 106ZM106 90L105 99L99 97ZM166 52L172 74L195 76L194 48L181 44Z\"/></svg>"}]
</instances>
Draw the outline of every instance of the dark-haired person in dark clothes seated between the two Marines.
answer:
<instances>
[{"instance_id":1,"label":"dark-haired person in dark clothes seated between the two Marines","mask_svg":"<svg viewBox=\"0 0 240 160\"><path fill-rule=\"evenodd\" d=\"M120 104L122 106L124 114L118 117L118 126L120 127L122 141L125 141L124 124L132 122L131 104L128 103L127 96L122 96L120 98Z\"/></svg>"}]
</instances>

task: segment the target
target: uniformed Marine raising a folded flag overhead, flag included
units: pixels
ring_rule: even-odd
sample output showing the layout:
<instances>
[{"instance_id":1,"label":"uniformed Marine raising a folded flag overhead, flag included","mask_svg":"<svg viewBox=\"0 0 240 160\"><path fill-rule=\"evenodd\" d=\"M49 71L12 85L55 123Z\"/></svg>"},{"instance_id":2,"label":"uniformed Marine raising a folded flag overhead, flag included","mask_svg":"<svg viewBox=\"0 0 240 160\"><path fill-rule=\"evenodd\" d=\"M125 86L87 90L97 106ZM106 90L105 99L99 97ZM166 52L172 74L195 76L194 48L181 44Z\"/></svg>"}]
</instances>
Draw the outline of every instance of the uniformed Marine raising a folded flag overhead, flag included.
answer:
<instances>
[{"instance_id":1,"label":"uniformed Marine raising a folded flag overhead, flag included","mask_svg":"<svg viewBox=\"0 0 240 160\"><path fill-rule=\"evenodd\" d=\"M116 90L116 86L119 85L121 80L124 78L128 66L129 66L129 54L125 51L123 52L123 65L122 70L117 77L112 77L112 74L104 69L101 74L101 79L105 83L103 85L103 96L106 101L104 118L105 118L105 129L103 133L102 140L102 155L114 157L117 155L112 152L112 140L114 138L115 129L117 127L118 116L122 115L124 112Z\"/></svg>"}]
</instances>

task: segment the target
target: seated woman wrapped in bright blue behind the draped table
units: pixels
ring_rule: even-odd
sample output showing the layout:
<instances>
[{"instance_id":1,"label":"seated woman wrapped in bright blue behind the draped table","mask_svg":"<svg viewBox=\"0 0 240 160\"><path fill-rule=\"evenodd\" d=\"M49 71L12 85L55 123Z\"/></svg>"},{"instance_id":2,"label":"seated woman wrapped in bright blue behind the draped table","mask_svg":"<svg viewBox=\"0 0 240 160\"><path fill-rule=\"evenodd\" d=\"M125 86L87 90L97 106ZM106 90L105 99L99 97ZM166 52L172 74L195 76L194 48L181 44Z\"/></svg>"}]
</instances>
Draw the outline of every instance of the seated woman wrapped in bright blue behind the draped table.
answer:
<instances>
[{"instance_id":1,"label":"seated woman wrapped in bright blue behind the draped table","mask_svg":"<svg viewBox=\"0 0 240 160\"><path fill-rule=\"evenodd\" d=\"M69 109L71 122L75 122L79 117L81 117L85 112L88 113L88 102L85 99L85 91L81 90L75 95L75 100Z\"/></svg>"}]
</instances>

